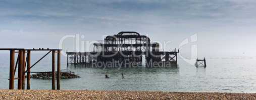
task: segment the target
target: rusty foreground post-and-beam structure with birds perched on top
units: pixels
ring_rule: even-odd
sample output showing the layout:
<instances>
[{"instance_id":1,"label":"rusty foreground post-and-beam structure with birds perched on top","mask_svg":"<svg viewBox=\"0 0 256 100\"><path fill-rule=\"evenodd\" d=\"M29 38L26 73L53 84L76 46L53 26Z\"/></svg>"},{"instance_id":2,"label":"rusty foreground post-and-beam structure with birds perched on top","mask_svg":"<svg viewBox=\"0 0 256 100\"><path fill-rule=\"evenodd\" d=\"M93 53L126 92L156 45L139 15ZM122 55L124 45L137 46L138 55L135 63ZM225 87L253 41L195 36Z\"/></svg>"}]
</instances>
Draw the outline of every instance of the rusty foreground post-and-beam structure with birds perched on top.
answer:
<instances>
[{"instance_id":1,"label":"rusty foreground post-and-beam structure with birds perched on top","mask_svg":"<svg viewBox=\"0 0 256 100\"><path fill-rule=\"evenodd\" d=\"M41 59L47 54L52 52L52 89L55 88L55 54L58 54L57 58L57 89L60 89L60 74L61 74L61 50L62 49L25 49L25 48L0 48L0 50L10 51L10 77L9 77L9 89L14 89L14 80L18 79L18 89L25 89L25 74L27 73L27 89L30 89L30 69L35 66ZM48 51L38 61L31 65L31 51ZM15 64L15 53L18 53L16 64ZM27 53L27 55L26 55ZM27 69L26 69L27 66ZM18 67L18 77L15 78L15 72Z\"/></svg>"}]
</instances>

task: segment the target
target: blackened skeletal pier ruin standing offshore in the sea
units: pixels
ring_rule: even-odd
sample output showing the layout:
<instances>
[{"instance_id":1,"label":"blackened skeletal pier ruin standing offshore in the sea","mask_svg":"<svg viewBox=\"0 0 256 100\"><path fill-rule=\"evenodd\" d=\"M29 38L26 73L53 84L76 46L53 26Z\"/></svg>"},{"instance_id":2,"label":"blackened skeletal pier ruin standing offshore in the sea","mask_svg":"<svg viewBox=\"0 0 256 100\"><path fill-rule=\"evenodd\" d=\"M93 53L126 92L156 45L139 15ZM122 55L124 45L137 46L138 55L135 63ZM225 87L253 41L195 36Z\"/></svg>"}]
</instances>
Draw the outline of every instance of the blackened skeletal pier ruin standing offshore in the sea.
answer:
<instances>
[{"instance_id":1,"label":"blackened skeletal pier ruin standing offshore in the sea","mask_svg":"<svg viewBox=\"0 0 256 100\"><path fill-rule=\"evenodd\" d=\"M178 51L160 51L159 43L150 43L150 38L135 31L121 31L108 35L103 43L93 43L91 52L66 52L67 65L91 62L137 62L142 63L145 55L146 66L152 62L171 62L177 65Z\"/></svg>"}]
</instances>

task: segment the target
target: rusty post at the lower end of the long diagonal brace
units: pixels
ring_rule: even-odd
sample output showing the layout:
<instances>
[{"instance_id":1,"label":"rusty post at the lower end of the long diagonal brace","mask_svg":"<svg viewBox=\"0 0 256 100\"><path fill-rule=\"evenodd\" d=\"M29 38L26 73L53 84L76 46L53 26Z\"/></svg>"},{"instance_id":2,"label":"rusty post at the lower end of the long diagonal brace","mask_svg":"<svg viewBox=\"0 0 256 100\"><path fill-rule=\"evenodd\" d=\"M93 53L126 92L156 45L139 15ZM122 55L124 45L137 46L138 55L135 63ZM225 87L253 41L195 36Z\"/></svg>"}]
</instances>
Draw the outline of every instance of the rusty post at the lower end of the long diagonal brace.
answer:
<instances>
[{"instance_id":1,"label":"rusty post at the lower end of the long diagonal brace","mask_svg":"<svg viewBox=\"0 0 256 100\"><path fill-rule=\"evenodd\" d=\"M27 89L30 89L30 61L31 61L31 52L28 50L27 52Z\"/></svg>"}]
</instances>

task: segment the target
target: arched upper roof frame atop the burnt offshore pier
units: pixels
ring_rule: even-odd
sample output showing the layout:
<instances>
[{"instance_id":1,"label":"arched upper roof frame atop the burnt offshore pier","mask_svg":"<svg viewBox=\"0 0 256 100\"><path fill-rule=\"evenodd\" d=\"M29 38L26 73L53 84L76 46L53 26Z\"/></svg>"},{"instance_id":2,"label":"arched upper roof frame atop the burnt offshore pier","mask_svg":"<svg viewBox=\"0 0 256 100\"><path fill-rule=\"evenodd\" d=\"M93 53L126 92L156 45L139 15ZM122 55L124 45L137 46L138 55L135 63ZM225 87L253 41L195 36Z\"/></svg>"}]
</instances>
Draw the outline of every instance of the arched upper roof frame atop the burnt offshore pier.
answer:
<instances>
[{"instance_id":1,"label":"arched upper roof frame atop the burnt offshore pier","mask_svg":"<svg viewBox=\"0 0 256 100\"><path fill-rule=\"evenodd\" d=\"M128 41L129 43L126 43ZM132 42L133 41L133 42ZM104 46L100 51L122 51L122 48L134 48L135 51L149 50L150 39L145 35L140 35L135 31L121 31L115 35L108 35L104 43L94 43L94 48ZM147 46L147 47L145 47Z\"/></svg>"}]
</instances>

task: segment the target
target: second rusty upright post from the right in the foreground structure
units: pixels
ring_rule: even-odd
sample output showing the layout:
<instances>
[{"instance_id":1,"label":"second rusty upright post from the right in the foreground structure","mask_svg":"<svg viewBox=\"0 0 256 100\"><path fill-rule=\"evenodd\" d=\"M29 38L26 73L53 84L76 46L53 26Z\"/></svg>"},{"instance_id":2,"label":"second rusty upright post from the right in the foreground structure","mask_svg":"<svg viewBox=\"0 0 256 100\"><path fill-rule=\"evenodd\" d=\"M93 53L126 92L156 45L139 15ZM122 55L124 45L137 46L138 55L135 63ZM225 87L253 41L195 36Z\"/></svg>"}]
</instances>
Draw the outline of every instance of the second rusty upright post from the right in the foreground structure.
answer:
<instances>
[{"instance_id":1,"label":"second rusty upright post from the right in the foreground structure","mask_svg":"<svg viewBox=\"0 0 256 100\"><path fill-rule=\"evenodd\" d=\"M55 50L52 50L52 89L55 89Z\"/></svg>"}]
</instances>

